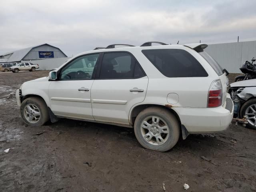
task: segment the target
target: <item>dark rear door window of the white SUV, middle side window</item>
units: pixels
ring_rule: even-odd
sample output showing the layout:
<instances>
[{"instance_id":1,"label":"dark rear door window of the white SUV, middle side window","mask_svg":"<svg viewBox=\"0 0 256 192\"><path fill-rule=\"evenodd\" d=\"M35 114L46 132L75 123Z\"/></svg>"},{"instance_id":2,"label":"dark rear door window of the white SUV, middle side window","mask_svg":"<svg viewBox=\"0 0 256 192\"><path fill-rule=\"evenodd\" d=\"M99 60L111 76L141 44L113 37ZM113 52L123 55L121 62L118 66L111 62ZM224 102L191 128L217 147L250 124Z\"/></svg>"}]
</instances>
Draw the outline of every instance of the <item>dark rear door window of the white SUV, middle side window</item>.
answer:
<instances>
[{"instance_id":1,"label":"dark rear door window of the white SUV, middle side window","mask_svg":"<svg viewBox=\"0 0 256 192\"><path fill-rule=\"evenodd\" d=\"M100 68L100 79L140 78L145 74L138 62L129 53L104 53Z\"/></svg>"}]
</instances>

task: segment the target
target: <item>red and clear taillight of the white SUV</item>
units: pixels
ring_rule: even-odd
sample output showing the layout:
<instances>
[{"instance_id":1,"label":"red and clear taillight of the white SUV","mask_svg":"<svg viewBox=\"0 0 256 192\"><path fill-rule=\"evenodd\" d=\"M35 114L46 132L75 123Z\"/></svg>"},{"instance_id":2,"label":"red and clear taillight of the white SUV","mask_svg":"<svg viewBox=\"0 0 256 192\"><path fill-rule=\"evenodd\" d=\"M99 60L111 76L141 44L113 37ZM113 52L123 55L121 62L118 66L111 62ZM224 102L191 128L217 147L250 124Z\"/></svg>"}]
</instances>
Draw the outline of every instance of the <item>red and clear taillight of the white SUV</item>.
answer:
<instances>
[{"instance_id":1,"label":"red and clear taillight of the white SUV","mask_svg":"<svg viewBox=\"0 0 256 192\"><path fill-rule=\"evenodd\" d=\"M218 107L222 104L222 84L215 80L208 93L208 107Z\"/></svg>"}]
</instances>

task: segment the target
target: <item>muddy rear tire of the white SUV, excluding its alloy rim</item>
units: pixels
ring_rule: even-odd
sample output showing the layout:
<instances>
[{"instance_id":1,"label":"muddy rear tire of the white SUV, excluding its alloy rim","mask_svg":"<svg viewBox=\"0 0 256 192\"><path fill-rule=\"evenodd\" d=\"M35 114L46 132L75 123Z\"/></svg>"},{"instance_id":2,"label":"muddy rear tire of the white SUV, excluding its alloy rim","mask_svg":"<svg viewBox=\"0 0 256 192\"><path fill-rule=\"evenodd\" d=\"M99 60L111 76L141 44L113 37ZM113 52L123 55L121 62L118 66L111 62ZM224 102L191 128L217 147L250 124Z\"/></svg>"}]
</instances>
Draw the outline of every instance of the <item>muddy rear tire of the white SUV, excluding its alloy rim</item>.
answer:
<instances>
[{"instance_id":1,"label":"muddy rear tire of the white SUV, excluding its alloy rim","mask_svg":"<svg viewBox=\"0 0 256 192\"><path fill-rule=\"evenodd\" d=\"M150 116L158 116L164 120L169 128L169 136L163 144L153 145L148 143L142 136L141 124L145 118ZM149 131L148 131L149 132ZM180 124L174 114L169 110L160 107L149 107L144 109L138 114L134 122L134 133L138 142L147 149L156 150L156 151L168 151L178 142L180 136ZM154 137L154 136L153 136Z\"/></svg>"}]
</instances>

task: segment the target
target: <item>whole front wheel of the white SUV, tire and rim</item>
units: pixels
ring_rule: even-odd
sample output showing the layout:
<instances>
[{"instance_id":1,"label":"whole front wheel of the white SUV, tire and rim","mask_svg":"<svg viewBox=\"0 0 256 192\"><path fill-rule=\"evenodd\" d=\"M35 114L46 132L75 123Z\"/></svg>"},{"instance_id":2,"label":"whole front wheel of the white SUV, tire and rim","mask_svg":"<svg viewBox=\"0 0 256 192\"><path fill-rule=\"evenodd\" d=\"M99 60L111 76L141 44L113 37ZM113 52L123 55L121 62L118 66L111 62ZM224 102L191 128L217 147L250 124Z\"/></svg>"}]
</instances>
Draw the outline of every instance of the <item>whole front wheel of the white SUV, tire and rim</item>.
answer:
<instances>
[{"instance_id":1,"label":"whole front wheel of the white SUV, tire and rim","mask_svg":"<svg viewBox=\"0 0 256 192\"><path fill-rule=\"evenodd\" d=\"M26 98L20 106L23 121L32 126L41 126L49 120L46 103L38 97Z\"/></svg>"}]
</instances>

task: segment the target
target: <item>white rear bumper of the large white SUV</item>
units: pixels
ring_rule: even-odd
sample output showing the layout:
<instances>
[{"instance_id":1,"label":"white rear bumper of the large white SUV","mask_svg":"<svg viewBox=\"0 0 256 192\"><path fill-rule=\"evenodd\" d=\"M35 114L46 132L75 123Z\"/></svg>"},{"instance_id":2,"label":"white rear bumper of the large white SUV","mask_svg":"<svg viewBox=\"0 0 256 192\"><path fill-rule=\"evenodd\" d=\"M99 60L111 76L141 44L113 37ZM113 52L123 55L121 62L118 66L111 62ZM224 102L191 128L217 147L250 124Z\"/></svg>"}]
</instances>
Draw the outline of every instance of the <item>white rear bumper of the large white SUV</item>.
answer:
<instances>
[{"instance_id":1,"label":"white rear bumper of the large white SUV","mask_svg":"<svg viewBox=\"0 0 256 192\"><path fill-rule=\"evenodd\" d=\"M230 102L231 101L231 102ZM216 108L177 108L181 124L189 134L214 133L226 130L234 113L234 105L227 94L223 106Z\"/></svg>"}]
</instances>

